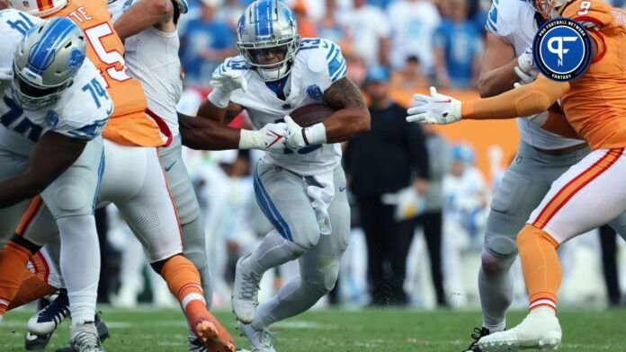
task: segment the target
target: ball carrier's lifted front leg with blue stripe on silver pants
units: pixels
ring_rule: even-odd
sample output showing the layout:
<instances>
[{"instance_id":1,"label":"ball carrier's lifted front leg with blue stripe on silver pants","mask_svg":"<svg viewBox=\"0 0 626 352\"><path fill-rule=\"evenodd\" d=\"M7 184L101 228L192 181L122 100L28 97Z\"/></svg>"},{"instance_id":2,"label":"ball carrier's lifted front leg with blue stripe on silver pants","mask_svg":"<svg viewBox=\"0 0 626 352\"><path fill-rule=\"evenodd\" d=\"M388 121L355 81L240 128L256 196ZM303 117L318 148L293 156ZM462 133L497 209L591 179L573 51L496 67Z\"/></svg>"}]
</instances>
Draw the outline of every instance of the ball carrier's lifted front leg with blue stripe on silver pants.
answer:
<instances>
[{"instance_id":1,"label":"ball carrier's lifted front leg with blue stripe on silver pants","mask_svg":"<svg viewBox=\"0 0 626 352\"><path fill-rule=\"evenodd\" d=\"M258 284L265 271L300 258L319 241L320 228L302 177L260 161L255 197L275 229L251 254L237 261L233 311L240 321L255 318Z\"/></svg>"}]
</instances>

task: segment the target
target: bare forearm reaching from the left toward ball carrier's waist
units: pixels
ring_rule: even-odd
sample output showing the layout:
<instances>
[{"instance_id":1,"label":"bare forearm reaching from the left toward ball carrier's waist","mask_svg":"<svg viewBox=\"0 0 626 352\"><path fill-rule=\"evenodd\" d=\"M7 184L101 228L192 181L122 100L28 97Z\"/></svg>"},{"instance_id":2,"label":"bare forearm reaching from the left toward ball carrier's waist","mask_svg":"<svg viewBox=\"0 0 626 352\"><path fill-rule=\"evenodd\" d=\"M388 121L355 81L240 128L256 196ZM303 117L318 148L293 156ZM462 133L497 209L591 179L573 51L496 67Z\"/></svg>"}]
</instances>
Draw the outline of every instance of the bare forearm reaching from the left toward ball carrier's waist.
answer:
<instances>
[{"instance_id":1,"label":"bare forearm reaching from the left toward ball carrier's waist","mask_svg":"<svg viewBox=\"0 0 626 352\"><path fill-rule=\"evenodd\" d=\"M226 150L239 147L241 130L228 128L214 119L192 118L178 113L183 145L196 150Z\"/></svg>"}]
</instances>

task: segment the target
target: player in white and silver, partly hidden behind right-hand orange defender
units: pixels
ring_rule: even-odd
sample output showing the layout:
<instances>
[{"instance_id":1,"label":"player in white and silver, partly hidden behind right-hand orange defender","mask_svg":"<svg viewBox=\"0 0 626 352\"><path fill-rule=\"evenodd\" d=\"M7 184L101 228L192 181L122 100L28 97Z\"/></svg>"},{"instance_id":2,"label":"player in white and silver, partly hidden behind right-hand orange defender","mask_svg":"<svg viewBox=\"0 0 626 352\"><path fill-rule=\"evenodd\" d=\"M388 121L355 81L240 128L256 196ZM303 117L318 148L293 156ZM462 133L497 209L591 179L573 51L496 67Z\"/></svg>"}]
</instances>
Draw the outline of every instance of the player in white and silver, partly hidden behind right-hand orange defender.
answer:
<instances>
[{"instance_id":1,"label":"player in white and silver, partly hidden behind right-hand orange defender","mask_svg":"<svg viewBox=\"0 0 626 352\"><path fill-rule=\"evenodd\" d=\"M520 80L522 84L534 80L538 73L532 66L530 47L543 22L545 19L531 2L500 0L492 4L478 82L481 96L505 92ZM551 183L589 153L588 145L573 133L559 108L550 110L516 121L521 136L517 157L496 189L487 217L478 271L483 324L472 334L470 351L478 350L477 342L482 336L505 330L505 313L513 300L510 269L517 256L517 233L548 193ZM624 216L611 224L618 232L626 233Z\"/></svg>"}]
</instances>

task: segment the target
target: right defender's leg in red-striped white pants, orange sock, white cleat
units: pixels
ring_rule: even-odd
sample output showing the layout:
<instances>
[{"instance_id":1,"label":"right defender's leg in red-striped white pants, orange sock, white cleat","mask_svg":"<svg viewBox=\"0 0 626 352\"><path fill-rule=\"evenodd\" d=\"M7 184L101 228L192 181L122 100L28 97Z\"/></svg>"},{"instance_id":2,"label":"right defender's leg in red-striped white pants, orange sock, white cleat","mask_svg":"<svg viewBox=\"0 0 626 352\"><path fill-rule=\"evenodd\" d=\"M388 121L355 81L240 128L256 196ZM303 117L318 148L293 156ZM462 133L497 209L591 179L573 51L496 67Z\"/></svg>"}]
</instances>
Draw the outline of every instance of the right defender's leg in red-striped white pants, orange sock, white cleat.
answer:
<instances>
[{"instance_id":1,"label":"right defender's leg in red-striped white pants, orange sock, white cleat","mask_svg":"<svg viewBox=\"0 0 626 352\"><path fill-rule=\"evenodd\" d=\"M556 249L626 209L624 172L623 149L596 150L553 182L517 237L531 312L514 329L480 339L481 348L559 346L561 330L555 311L560 265Z\"/></svg>"}]
</instances>

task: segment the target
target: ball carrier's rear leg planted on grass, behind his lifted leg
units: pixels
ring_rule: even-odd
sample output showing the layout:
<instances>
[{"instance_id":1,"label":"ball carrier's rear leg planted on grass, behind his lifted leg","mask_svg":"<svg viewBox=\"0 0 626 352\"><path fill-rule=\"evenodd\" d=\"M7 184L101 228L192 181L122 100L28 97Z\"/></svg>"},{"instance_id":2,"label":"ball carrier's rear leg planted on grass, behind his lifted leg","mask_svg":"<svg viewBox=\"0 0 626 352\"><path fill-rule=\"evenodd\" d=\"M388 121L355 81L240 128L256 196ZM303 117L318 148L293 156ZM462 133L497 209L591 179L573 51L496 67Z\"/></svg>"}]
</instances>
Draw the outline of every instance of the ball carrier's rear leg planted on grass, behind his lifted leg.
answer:
<instances>
[{"instance_id":1,"label":"ball carrier's rear leg planted on grass, behind his lifted leg","mask_svg":"<svg viewBox=\"0 0 626 352\"><path fill-rule=\"evenodd\" d=\"M341 191L345 185L341 167L335 169L334 179L335 198L328 207L333 232L321 235L317 245L300 257L300 276L292 277L276 295L261 304L251 324L239 325L253 348L255 343L269 343L266 331L273 322L306 312L335 287L339 263L350 239L350 206L345 191Z\"/></svg>"}]
</instances>

